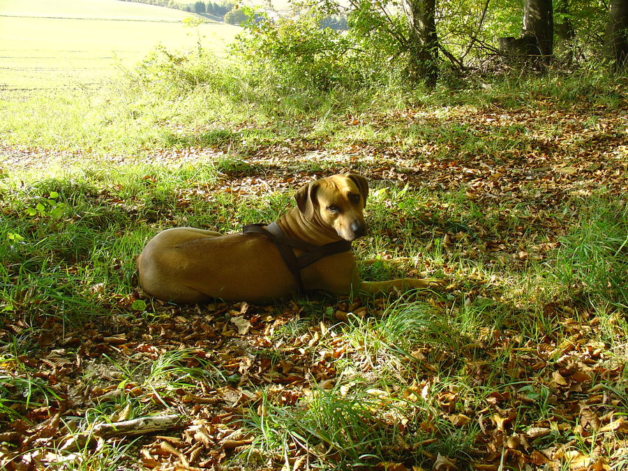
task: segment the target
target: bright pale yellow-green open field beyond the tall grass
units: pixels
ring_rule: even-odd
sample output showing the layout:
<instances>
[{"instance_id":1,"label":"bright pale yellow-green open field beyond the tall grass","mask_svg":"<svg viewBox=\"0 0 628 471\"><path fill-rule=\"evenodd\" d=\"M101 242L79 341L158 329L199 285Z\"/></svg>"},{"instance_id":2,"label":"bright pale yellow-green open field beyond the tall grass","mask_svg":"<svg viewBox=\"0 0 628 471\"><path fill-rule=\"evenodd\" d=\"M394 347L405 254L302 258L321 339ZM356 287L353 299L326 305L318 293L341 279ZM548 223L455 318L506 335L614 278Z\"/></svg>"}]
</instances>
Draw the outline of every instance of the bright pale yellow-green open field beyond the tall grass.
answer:
<instances>
[{"instance_id":1,"label":"bright pale yellow-green open field beyond the tall grass","mask_svg":"<svg viewBox=\"0 0 628 471\"><path fill-rule=\"evenodd\" d=\"M188 13L116 0L0 3L0 88L93 84L130 68L156 45L222 54L239 27L185 27Z\"/></svg>"}]
</instances>

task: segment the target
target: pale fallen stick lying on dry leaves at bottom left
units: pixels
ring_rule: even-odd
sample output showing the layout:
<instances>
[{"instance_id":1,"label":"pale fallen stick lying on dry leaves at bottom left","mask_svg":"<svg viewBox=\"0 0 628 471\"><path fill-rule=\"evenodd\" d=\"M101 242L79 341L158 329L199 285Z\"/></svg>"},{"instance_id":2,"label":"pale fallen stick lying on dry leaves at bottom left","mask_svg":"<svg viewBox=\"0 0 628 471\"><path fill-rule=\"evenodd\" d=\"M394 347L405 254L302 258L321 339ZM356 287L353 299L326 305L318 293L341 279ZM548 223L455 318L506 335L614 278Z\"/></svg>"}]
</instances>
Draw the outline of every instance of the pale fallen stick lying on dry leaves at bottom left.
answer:
<instances>
[{"instance_id":1,"label":"pale fallen stick lying on dry leaves at bottom left","mask_svg":"<svg viewBox=\"0 0 628 471\"><path fill-rule=\"evenodd\" d=\"M128 435L147 435L165 431L177 426L179 416L154 415L151 417L137 417L137 419L123 420L107 424L96 424L89 432L75 433L63 442L63 451L77 451L84 447L95 446L97 438L113 438Z\"/></svg>"}]
</instances>

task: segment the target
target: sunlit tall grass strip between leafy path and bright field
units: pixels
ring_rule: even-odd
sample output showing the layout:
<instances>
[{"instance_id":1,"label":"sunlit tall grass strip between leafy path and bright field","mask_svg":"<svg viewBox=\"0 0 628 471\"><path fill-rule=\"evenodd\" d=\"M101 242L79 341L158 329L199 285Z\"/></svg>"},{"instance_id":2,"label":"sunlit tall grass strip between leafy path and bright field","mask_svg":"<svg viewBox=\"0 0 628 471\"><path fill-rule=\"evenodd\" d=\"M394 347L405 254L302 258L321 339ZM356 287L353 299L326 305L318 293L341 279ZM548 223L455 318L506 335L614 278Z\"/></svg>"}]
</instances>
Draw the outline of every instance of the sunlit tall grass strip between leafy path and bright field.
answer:
<instances>
[{"instance_id":1,"label":"sunlit tall grass strip between leafy path and bright field","mask_svg":"<svg viewBox=\"0 0 628 471\"><path fill-rule=\"evenodd\" d=\"M334 146L369 140L402 144L468 141L472 130L459 124L438 128L417 124L370 128L372 110L386 115L408 106L465 105L477 109L514 109L542 103L547 97L569 106L574 97L589 106L620 107L625 77L552 74L495 80L490 87L469 82L455 90L442 85L426 93L401 80L364 82L351 88L339 83L316 90L307 81L285 83L269 68L247 67L209 52L155 50L121 82L103 89L33 94L0 102L0 134L10 144L52 149L91 149L98 154L140 153L146 149L220 147L246 154L260 144L308 139ZM482 82L486 86L486 83ZM455 91L455 93L452 93ZM347 117L366 115L361 126L347 128ZM477 137L468 152L521 145L523 129L486 140ZM513 140L516 137L517 140Z\"/></svg>"}]
</instances>

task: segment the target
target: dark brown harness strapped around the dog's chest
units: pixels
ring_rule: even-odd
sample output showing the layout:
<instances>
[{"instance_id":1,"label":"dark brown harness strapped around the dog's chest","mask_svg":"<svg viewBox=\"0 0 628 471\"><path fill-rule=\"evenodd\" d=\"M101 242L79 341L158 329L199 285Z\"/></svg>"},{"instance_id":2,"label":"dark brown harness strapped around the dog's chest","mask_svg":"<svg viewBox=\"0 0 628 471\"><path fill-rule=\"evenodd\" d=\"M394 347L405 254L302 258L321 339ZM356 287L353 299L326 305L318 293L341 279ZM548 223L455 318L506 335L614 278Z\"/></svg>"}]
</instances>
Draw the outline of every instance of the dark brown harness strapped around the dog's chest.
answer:
<instances>
[{"instance_id":1,"label":"dark brown harness strapped around the dog's chest","mask_svg":"<svg viewBox=\"0 0 628 471\"><path fill-rule=\"evenodd\" d=\"M279 253L281 253L281 257L283 258L283 261L285 262L287 268L290 270L290 273L292 273L292 276L294 276L294 279L297 281L299 294L304 294L306 292L305 285L303 284L303 279L301 279L302 269L308 267L308 265L311 265L324 257L328 257L329 255L335 255L336 253L342 253L351 250L351 242L345 240L335 241L329 244L324 244L322 246L317 246L315 244L309 244L308 242L301 241L299 239L285 237L277 223L272 223L270 225L245 225L244 227L242 227L242 234L264 234L275 243ZM292 250L293 248L298 248L304 253L297 257L297 255L294 255L294 251Z\"/></svg>"}]
</instances>

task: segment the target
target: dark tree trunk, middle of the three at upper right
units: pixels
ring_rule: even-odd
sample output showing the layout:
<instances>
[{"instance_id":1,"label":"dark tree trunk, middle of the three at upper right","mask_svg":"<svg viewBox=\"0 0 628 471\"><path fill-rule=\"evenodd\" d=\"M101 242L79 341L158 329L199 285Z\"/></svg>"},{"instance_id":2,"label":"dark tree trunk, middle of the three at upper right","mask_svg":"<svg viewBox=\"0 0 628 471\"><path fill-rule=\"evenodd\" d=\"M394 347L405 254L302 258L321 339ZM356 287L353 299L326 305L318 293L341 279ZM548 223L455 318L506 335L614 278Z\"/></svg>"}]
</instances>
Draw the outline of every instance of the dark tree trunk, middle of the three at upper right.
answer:
<instances>
[{"instance_id":1,"label":"dark tree trunk, middle of the three at upper right","mask_svg":"<svg viewBox=\"0 0 628 471\"><path fill-rule=\"evenodd\" d=\"M545 64L551 61L554 43L552 0L525 0L522 37L530 41L530 57L539 57Z\"/></svg>"}]
</instances>

